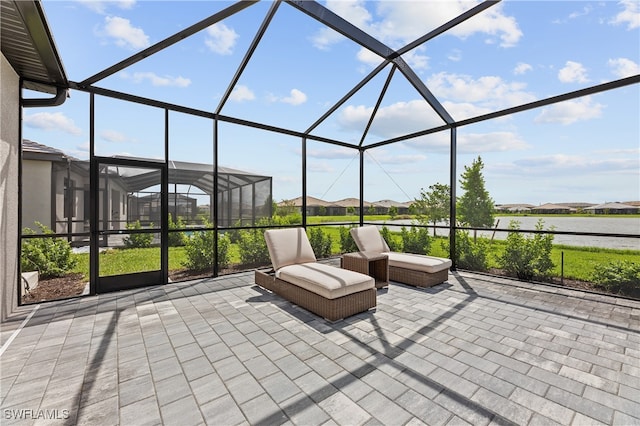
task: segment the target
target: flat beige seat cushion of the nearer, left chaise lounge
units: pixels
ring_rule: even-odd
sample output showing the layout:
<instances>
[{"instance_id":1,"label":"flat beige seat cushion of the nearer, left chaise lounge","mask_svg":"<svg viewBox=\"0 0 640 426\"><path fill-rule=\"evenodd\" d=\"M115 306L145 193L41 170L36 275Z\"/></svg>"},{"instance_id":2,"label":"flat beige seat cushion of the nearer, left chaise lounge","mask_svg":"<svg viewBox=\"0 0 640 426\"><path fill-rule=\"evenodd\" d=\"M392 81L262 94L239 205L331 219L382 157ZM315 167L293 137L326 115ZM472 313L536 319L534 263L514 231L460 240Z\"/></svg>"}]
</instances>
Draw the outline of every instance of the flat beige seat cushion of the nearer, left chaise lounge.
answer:
<instances>
[{"instance_id":1,"label":"flat beige seat cushion of the nearer, left chaise lounge","mask_svg":"<svg viewBox=\"0 0 640 426\"><path fill-rule=\"evenodd\" d=\"M368 275L323 263L284 266L276 270L276 277L326 299L336 299L375 287L375 280Z\"/></svg>"}]
</instances>

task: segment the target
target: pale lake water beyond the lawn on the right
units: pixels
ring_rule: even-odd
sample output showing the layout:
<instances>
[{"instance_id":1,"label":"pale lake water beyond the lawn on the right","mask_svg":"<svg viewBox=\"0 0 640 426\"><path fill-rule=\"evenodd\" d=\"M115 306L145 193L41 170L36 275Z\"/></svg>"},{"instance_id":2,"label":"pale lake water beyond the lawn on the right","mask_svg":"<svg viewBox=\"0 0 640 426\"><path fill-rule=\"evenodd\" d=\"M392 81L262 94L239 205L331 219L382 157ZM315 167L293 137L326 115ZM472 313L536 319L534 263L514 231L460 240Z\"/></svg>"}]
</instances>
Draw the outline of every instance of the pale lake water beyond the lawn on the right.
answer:
<instances>
[{"instance_id":1,"label":"pale lake water beyond the lawn on the right","mask_svg":"<svg viewBox=\"0 0 640 426\"><path fill-rule=\"evenodd\" d=\"M555 231L565 232L597 232L604 234L640 235L640 218L638 217L568 217L568 216L496 216L498 228L506 229L509 222L520 222L520 229L535 229L538 220L544 221L544 229L553 226ZM387 225L409 225L410 220L395 220ZM390 229L395 230L389 226ZM449 231L438 229L438 235L448 235ZM478 231L478 235L491 238L493 231ZM504 240L506 232L495 232L494 238ZM640 238L592 237L581 235L555 235L554 244L571 246L589 246L617 249L640 250Z\"/></svg>"}]
</instances>

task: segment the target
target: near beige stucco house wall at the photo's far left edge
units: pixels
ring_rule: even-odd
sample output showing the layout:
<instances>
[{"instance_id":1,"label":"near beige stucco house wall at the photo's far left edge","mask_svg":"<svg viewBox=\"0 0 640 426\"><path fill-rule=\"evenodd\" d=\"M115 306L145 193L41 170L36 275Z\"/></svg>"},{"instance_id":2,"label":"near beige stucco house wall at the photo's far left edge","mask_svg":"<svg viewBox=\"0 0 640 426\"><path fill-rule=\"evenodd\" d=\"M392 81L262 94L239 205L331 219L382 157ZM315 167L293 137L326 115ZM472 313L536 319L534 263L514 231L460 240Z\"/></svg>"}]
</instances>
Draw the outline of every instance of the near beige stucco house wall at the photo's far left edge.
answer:
<instances>
[{"instance_id":1,"label":"near beige stucco house wall at the photo's far left edge","mask_svg":"<svg viewBox=\"0 0 640 426\"><path fill-rule=\"evenodd\" d=\"M20 79L0 60L0 321L18 306Z\"/></svg>"}]
</instances>

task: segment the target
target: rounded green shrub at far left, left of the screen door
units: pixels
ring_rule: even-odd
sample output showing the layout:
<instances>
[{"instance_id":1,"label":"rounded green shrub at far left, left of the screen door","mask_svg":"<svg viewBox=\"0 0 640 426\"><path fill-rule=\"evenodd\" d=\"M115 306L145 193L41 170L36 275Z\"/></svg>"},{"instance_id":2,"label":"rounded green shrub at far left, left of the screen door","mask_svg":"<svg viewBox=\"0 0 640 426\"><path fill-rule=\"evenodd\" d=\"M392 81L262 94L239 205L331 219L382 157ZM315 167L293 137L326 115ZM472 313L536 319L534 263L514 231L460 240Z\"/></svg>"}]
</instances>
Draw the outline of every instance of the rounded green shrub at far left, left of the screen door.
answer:
<instances>
[{"instance_id":1,"label":"rounded green shrub at far left, left of the screen door","mask_svg":"<svg viewBox=\"0 0 640 426\"><path fill-rule=\"evenodd\" d=\"M47 226L36 222L40 232L45 235L53 234ZM25 235L35 235L35 231L25 228ZM38 271L41 277L61 277L73 269L77 258L73 255L68 241L55 237L29 238L22 240L22 255L20 267L22 272Z\"/></svg>"}]
</instances>

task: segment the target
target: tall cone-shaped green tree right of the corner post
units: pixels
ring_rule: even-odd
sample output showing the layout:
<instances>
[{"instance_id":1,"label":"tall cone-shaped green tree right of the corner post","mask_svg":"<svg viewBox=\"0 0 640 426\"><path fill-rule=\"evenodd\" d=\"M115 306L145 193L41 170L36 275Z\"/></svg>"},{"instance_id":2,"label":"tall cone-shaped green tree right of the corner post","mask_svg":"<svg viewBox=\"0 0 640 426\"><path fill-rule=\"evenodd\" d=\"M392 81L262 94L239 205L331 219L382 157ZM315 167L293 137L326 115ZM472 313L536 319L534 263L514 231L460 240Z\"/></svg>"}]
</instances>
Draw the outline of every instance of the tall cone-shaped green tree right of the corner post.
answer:
<instances>
[{"instance_id":1,"label":"tall cone-shaped green tree right of the corner post","mask_svg":"<svg viewBox=\"0 0 640 426\"><path fill-rule=\"evenodd\" d=\"M474 228L490 228L494 220L494 203L485 188L483 168L482 159L478 156L471 167L464 167L460 179L464 194L457 200L457 219Z\"/></svg>"}]
</instances>

